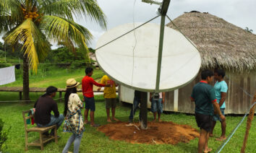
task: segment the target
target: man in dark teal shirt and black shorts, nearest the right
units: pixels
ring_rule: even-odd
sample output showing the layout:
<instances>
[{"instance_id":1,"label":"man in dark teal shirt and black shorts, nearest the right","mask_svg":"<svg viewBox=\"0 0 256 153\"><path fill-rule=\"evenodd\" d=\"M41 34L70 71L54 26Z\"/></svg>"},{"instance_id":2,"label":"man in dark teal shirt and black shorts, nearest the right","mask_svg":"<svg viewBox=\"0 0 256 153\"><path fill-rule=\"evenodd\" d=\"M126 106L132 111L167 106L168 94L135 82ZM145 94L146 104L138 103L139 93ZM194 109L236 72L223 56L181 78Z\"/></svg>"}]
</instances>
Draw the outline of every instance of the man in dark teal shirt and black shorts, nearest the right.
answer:
<instances>
[{"instance_id":1,"label":"man in dark teal shirt and black shorts, nearest the right","mask_svg":"<svg viewBox=\"0 0 256 153\"><path fill-rule=\"evenodd\" d=\"M198 153L212 150L208 148L208 139L212 128L213 108L220 115L220 118L225 121L225 116L221 114L216 100L215 90L210 85L213 82L213 71L202 71L201 78L202 80L193 87L191 94L191 101L195 101L195 120L197 126L200 127Z\"/></svg>"}]
</instances>

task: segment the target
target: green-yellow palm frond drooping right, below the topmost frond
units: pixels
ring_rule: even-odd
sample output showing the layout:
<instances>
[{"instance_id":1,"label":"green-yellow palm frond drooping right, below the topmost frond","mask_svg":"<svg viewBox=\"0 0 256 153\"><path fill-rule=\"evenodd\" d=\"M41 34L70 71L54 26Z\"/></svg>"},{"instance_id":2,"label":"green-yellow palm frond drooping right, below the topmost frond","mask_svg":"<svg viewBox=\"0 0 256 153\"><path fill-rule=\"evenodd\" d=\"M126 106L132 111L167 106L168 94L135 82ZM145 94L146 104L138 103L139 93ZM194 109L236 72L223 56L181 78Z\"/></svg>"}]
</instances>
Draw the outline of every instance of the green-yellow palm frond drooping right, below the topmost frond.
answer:
<instances>
[{"instance_id":1,"label":"green-yellow palm frond drooping right, below the topmost frond","mask_svg":"<svg viewBox=\"0 0 256 153\"><path fill-rule=\"evenodd\" d=\"M49 40L63 42L64 44L74 43L82 51L85 51L85 57L89 56L86 44L90 42L92 35L85 27L61 17L43 16L39 28L46 33Z\"/></svg>"}]
</instances>

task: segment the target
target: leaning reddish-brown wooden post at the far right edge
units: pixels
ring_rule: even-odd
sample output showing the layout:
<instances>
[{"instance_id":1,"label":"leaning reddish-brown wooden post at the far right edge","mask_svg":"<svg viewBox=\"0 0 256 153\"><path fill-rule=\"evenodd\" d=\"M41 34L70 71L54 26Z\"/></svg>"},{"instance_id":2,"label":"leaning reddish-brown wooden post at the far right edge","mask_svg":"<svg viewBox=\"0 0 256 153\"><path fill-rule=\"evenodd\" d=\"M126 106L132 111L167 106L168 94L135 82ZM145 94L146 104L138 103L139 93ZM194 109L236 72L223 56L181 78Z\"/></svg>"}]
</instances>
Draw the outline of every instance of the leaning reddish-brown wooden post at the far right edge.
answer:
<instances>
[{"instance_id":1,"label":"leaning reddish-brown wooden post at the far right edge","mask_svg":"<svg viewBox=\"0 0 256 153\"><path fill-rule=\"evenodd\" d=\"M256 92L255 92L255 96L253 97L253 100L252 100L252 103L255 103L255 102L256 102ZM241 153L245 152L247 139L248 139L248 136L249 136L249 128L251 128L251 126L252 126L252 120L253 120L254 115L255 115L255 105L249 110L249 115L248 115L248 118L247 118L246 131L245 131L245 134L244 134L244 143L243 143L243 146L242 146L242 149L241 149Z\"/></svg>"}]
</instances>

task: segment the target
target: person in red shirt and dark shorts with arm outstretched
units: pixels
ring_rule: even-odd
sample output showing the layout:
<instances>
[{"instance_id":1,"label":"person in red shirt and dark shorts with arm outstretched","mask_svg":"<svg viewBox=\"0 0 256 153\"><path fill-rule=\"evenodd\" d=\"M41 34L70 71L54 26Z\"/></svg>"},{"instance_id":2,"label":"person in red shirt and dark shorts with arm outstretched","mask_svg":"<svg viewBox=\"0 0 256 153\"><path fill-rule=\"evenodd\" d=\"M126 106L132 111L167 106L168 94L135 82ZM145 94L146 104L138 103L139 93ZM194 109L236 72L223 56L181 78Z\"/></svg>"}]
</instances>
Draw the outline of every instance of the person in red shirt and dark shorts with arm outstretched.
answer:
<instances>
[{"instance_id":1,"label":"person in red shirt and dark shorts with arm outstretched","mask_svg":"<svg viewBox=\"0 0 256 153\"><path fill-rule=\"evenodd\" d=\"M110 84L99 84L91 77L93 75L93 68L85 69L86 76L82 78L82 94L85 100L85 124L89 123L88 113L90 110L90 126L98 127L100 125L94 123L95 100L93 95L93 85L98 87L110 87Z\"/></svg>"}]
</instances>

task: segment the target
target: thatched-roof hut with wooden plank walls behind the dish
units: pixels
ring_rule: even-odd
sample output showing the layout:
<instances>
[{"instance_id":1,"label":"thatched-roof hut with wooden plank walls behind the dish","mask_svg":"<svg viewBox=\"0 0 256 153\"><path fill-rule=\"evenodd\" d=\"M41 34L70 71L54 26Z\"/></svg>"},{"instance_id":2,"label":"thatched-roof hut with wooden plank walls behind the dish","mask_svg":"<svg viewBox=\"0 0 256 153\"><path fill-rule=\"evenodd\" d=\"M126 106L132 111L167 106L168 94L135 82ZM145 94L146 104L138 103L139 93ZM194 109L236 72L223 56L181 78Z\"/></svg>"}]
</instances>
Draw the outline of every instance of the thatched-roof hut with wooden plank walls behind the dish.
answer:
<instances>
[{"instance_id":1,"label":"thatched-roof hut with wooden plank walls behind the dish","mask_svg":"<svg viewBox=\"0 0 256 153\"><path fill-rule=\"evenodd\" d=\"M225 113L243 114L256 91L256 35L208 13L184 13L174 19L174 24L197 45L201 69L226 70L229 90ZM176 29L171 22L167 26ZM189 97L199 81L200 74L185 87L166 92L163 110L194 113L195 103ZM132 103L132 96L132 89L120 88L121 101Z\"/></svg>"}]
</instances>

